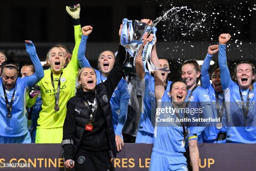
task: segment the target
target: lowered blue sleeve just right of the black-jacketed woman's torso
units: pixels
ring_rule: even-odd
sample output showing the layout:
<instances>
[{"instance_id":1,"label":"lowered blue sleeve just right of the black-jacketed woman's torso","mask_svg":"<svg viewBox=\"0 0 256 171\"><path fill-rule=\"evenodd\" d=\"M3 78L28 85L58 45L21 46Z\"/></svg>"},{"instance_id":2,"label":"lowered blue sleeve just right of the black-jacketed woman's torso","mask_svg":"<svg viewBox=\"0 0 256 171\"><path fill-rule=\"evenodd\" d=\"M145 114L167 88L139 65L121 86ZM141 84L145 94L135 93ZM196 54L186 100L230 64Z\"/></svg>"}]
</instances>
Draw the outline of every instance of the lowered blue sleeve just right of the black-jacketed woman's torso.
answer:
<instances>
[{"instance_id":1,"label":"lowered blue sleeve just right of the black-jacketed woman's torso","mask_svg":"<svg viewBox=\"0 0 256 171\"><path fill-rule=\"evenodd\" d=\"M118 119L118 125L115 130L115 135L120 135L123 130L123 126L125 124L126 118L127 118L127 112L128 112L128 103L130 99L130 94L128 91L128 84L127 82L123 82L122 89L120 91L120 116Z\"/></svg>"}]
</instances>

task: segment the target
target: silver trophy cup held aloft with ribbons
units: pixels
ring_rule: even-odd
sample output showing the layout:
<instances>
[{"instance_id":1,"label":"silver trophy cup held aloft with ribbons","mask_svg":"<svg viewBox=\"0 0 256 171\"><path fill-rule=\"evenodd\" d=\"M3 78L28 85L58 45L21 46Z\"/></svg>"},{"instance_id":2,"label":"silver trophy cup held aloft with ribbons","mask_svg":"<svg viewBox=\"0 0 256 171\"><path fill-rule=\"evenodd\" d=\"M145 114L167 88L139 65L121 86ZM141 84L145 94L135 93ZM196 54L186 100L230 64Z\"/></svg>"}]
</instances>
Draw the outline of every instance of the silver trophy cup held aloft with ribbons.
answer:
<instances>
[{"instance_id":1,"label":"silver trophy cup held aloft with ribbons","mask_svg":"<svg viewBox=\"0 0 256 171\"><path fill-rule=\"evenodd\" d=\"M122 43L121 35L121 44L125 47L126 50L126 59L123 63L122 69L127 72L134 72L134 59L138 54L139 48L142 46L142 36L148 28L148 24L142 23L138 20L132 20L130 23L127 23L127 35L128 43ZM124 27L123 27L124 28ZM149 31L149 30L148 30ZM122 29L124 33L124 30ZM121 34L122 34L121 32Z\"/></svg>"}]
</instances>

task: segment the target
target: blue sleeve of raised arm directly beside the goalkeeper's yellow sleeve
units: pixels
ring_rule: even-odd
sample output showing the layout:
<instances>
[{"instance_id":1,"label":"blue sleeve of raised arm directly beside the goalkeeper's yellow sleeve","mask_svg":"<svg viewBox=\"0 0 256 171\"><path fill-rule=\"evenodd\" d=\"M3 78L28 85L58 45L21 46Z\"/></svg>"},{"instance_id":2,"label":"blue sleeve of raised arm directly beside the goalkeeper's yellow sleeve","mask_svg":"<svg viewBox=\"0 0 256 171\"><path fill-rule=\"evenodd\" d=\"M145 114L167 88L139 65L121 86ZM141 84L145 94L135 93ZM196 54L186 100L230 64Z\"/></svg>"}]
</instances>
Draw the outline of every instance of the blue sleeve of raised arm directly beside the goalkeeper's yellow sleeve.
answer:
<instances>
[{"instance_id":1,"label":"blue sleeve of raised arm directly beside the goalkeeper's yellow sleeve","mask_svg":"<svg viewBox=\"0 0 256 171\"><path fill-rule=\"evenodd\" d=\"M77 60L78 60L79 65L80 65L81 68L91 66L89 61L85 57L86 42L87 42L88 37L89 36L82 35L82 39L81 39L81 42L80 42L80 45L79 45L79 48L78 48Z\"/></svg>"}]
</instances>

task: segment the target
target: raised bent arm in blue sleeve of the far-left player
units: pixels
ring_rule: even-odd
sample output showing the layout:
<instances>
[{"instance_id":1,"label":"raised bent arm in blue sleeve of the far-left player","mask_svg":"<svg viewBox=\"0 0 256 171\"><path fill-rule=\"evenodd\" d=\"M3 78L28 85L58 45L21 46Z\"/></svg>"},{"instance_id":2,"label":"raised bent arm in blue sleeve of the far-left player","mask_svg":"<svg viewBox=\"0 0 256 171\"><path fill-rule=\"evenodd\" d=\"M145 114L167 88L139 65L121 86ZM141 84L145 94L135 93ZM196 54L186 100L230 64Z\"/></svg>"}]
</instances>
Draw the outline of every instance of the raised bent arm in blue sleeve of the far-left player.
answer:
<instances>
[{"instance_id":1,"label":"raised bent arm in blue sleeve of the far-left player","mask_svg":"<svg viewBox=\"0 0 256 171\"><path fill-rule=\"evenodd\" d=\"M41 65L41 62L36 54L36 47L32 43L32 41L26 42L26 51L35 66L35 73L31 76L24 77L23 79L26 81L26 86L32 87L34 84L38 83L44 77L44 69Z\"/></svg>"}]
</instances>

